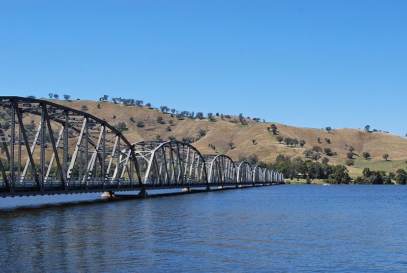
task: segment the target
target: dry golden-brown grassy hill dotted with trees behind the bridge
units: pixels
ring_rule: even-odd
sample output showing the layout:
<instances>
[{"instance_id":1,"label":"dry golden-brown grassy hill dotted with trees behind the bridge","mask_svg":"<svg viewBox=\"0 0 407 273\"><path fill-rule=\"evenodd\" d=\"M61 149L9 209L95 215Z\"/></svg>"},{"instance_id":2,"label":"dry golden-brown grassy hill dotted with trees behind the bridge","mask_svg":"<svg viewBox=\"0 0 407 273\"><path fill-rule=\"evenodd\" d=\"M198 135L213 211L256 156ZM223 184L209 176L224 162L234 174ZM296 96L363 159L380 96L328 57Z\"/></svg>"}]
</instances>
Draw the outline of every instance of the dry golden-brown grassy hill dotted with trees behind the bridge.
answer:
<instances>
[{"instance_id":1,"label":"dry golden-brown grassy hill dotted with trees behind the bridge","mask_svg":"<svg viewBox=\"0 0 407 273\"><path fill-rule=\"evenodd\" d=\"M49 99L47 99L49 100ZM157 140L160 135L162 140L168 140L169 137L175 137L181 140L186 137L196 138L199 130L205 130L205 136L201 137L192 145L199 149L202 154L223 153L232 159L238 159L239 155L249 156L256 154L264 162L274 162L278 154L294 157L304 157L303 151L311 149L313 146L319 146L322 149L329 147L335 156L328 156L330 164L344 164L348 147L355 148L355 165L348 167L350 175L356 177L362 173L363 168L372 170L384 170L395 172L397 169L405 168L407 163L407 139L398 135L386 132L366 132L353 128L337 128L328 132L325 129L302 128L289 126L277 122L256 122L245 118L247 125L233 123L230 121L238 120L237 116L230 118L215 116L214 121L208 118L196 119L185 118L178 120L175 115L164 114L160 110L148 108L147 106L125 106L122 103L101 102L94 100L49 100L81 110L82 105L88 106L86 111L98 118L105 119L108 123L114 125L119 122L126 123L128 130L124 131L125 137L130 142L140 140ZM100 108L97 105L100 104ZM115 118L114 118L115 116ZM157 118L162 117L162 124L157 122ZM133 121L130 120L133 118ZM169 120L173 121L172 126ZM144 127L137 127L136 123L142 121ZM287 147L283 142L281 144L276 140L277 135L267 130L267 127L274 123L277 126L277 133L283 138L296 138L305 140L306 144L301 147ZM171 129L168 131L168 127ZM318 143L320 138L322 143ZM324 141L329 138L331 143ZM256 144L252 140L256 140ZM231 149L229 142L234 143ZM216 149L209 147L212 144ZM370 159L362 157L363 152L369 152ZM384 153L390 155L389 160L382 158ZM323 155L324 156L324 155Z\"/></svg>"}]
</instances>

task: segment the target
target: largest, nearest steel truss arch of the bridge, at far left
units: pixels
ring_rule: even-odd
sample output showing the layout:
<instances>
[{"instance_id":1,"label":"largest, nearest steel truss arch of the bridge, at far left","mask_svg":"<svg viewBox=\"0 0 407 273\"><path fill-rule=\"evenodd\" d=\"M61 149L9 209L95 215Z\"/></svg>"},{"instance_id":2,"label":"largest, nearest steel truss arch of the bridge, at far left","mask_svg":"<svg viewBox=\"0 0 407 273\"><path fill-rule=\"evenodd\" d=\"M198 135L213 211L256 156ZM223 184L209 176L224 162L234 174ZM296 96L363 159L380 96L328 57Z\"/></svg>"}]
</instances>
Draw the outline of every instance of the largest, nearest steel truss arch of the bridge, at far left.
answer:
<instances>
[{"instance_id":1,"label":"largest, nearest steel truss arch of the bridge, at far left","mask_svg":"<svg viewBox=\"0 0 407 273\"><path fill-rule=\"evenodd\" d=\"M132 145L104 120L51 101L15 96L0 96L0 111L0 141L9 165L6 170L0 163L1 190L116 187L129 168L136 177L128 183L141 182L137 164L131 164L136 160Z\"/></svg>"}]
</instances>

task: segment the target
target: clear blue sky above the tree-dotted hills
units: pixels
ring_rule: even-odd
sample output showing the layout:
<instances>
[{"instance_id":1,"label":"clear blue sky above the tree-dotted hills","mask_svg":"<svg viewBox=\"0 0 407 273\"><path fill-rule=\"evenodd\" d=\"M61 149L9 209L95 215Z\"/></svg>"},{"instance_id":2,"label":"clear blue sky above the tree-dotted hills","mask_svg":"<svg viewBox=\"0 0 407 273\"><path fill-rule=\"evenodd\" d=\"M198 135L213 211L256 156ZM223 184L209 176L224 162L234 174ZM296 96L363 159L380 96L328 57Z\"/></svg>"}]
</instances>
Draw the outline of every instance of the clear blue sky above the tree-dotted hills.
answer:
<instances>
[{"instance_id":1,"label":"clear blue sky above the tree-dotted hills","mask_svg":"<svg viewBox=\"0 0 407 273\"><path fill-rule=\"evenodd\" d=\"M407 1L0 0L0 94L407 133Z\"/></svg>"}]
</instances>

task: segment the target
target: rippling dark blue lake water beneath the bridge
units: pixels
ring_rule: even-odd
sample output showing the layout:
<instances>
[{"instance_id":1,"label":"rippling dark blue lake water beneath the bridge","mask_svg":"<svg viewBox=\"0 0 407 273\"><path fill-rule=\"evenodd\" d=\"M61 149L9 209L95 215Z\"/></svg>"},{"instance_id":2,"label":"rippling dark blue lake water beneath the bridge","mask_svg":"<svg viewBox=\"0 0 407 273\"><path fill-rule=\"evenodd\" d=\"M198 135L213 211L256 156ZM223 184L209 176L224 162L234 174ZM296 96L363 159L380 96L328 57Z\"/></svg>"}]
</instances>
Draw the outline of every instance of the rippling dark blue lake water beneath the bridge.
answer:
<instances>
[{"instance_id":1,"label":"rippling dark blue lake water beneath the bridge","mask_svg":"<svg viewBox=\"0 0 407 273\"><path fill-rule=\"evenodd\" d=\"M278 185L12 210L0 268L401 272L406 198L398 185Z\"/></svg>"}]
</instances>

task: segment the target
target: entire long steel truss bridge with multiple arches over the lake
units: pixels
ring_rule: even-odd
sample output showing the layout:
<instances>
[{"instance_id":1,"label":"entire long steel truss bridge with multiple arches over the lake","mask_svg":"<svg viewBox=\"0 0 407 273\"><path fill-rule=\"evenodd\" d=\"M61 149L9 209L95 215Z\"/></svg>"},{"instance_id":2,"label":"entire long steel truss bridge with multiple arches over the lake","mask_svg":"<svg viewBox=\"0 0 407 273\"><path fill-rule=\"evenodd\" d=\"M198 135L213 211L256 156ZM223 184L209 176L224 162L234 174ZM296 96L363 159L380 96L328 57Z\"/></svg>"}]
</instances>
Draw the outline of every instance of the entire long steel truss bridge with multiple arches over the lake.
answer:
<instances>
[{"instance_id":1,"label":"entire long steel truss bridge with multiple arches over the lake","mask_svg":"<svg viewBox=\"0 0 407 273\"><path fill-rule=\"evenodd\" d=\"M130 143L95 116L23 97L0 96L0 148L2 197L284 183L181 141Z\"/></svg>"}]
</instances>

